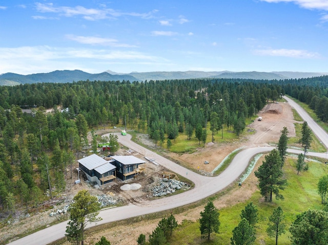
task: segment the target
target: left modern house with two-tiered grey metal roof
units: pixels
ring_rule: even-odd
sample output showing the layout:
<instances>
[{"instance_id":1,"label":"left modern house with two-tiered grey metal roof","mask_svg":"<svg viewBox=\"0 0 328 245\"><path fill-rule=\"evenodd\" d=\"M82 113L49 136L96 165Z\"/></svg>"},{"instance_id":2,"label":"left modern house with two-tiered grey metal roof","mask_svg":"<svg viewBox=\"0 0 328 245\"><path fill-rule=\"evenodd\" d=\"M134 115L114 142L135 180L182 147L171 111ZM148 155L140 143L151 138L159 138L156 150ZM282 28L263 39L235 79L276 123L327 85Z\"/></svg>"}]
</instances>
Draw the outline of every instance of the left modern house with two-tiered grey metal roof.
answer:
<instances>
[{"instance_id":1,"label":"left modern house with two-tiered grey metal roof","mask_svg":"<svg viewBox=\"0 0 328 245\"><path fill-rule=\"evenodd\" d=\"M85 172L90 182L96 182L99 186L116 180L116 167L114 160L107 161L96 154L77 160L79 168Z\"/></svg>"}]
</instances>

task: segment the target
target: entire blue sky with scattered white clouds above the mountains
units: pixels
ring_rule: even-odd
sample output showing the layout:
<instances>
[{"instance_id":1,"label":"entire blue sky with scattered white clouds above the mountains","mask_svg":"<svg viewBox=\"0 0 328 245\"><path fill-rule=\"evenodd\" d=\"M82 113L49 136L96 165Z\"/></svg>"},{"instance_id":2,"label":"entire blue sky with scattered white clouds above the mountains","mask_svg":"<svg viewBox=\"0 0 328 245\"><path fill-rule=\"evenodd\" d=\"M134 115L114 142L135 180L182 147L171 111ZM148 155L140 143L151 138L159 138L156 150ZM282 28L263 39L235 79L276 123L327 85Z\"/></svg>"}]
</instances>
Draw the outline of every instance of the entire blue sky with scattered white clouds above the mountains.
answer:
<instances>
[{"instance_id":1,"label":"entire blue sky with scattered white clouds above the mountains","mask_svg":"<svg viewBox=\"0 0 328 245\"><path fill-rule=\"evenodd\" d=\"M328 0L0 0L0 74L328 72Z\"/></svg>"}]
</instances>

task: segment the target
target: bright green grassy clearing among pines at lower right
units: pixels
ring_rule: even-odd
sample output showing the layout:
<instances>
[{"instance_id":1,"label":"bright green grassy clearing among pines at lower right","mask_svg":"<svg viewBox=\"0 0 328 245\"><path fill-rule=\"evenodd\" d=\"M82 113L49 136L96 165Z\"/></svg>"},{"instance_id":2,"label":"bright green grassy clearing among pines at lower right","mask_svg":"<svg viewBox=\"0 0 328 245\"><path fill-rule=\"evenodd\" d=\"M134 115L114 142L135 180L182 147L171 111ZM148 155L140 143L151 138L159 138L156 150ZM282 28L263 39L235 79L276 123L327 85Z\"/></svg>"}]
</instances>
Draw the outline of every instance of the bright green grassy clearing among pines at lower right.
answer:
<instances>
[{"instance_id":1,"label":"bright green grassy clearing among pines at lower right","mask_svg":"<svg viewBox=\"0 0 328 245\"><path fill-rule=\"evenodd\" d=\"M309 170L300 172L297 175L295 167L296 159L288 158L284 165L285 177L288 180L288 186L281 191L284 201L276 200L272 203L264 203L256 191L251 199L247 202L253 202L259 210L259 222L256 226L255 244L275 244L274 238L268 237L266 229L268 226L268 217L272 214L273 209L281 206L285 220L287 222L286 233L279 237L279 244L290 244L290 233L288 231L291 223L295 220L296 215L308 209L322 209L320 196L317 194L318 179L328 174L328 167L324 164L309 162ZM240 203L235 206L219 210L220 212L220 233L212 234L211 241L201 240L199 223L184 221L174 231L171 245L184 244L230 244L232 230L240 221L240 212L247 203Z\"/></svg>"}]
</instances>

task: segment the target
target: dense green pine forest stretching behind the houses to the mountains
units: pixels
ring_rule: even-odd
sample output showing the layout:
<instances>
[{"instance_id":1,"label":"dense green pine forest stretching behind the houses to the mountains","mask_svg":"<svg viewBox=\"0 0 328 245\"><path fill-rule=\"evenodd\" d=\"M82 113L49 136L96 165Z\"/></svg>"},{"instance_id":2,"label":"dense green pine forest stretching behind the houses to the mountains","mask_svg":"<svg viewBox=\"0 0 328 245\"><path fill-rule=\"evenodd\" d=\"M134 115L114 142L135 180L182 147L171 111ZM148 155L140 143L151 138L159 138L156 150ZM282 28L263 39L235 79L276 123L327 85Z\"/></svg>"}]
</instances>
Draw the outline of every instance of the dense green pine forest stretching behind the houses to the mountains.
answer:
<instances>
[{"instance_id":1,"label":"dense green pine forest stretching behind the houses to the mountains","mask_svg":"<svg viewBox=\"0 0 328 245\"><path fill-rule=\"evenodd\" d=\"M0 210L14 212L22 205L28 212L52 198L51 190L65 190L74 153L86 144L92 128L126 123L128 129L164 141L179 134L197 137L198 129L211 122L210 130L229 128L237 138L246 118L284 94L310 104L327 121L327 82L323 76L0 86ZM33 105L33 116L23 114L21 106ZM53 113L46 113L49 108Z\"/></svg>"}]
</instances>

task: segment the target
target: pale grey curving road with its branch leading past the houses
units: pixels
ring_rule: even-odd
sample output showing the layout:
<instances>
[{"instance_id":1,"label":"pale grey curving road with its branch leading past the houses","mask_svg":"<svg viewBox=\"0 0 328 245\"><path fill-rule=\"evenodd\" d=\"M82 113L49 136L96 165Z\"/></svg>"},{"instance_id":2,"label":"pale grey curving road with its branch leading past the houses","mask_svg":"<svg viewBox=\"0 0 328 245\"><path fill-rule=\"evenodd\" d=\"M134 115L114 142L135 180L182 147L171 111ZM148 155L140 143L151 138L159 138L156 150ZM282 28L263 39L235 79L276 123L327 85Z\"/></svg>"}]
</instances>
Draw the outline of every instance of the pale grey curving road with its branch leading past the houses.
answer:
<instances>
[{"instance_id":1,"label":"pale grey curving road with its branch leading past the houses","mask_svg":"<svg viewBox=\"0 0 328 245\"><path fill-rule=\"evenodd\" d=\"M325 146L328 146L328 135L325 131L323 131L312 119L311 117L305 113L305 111L298 106L295 102L290 100L287 97L284 97L291 105L294 107L300 116L309 123L309 127L312 128L317 137L322 141ZM271 151L274 147L254 147L247 148L239 152L229 167L224 170L220 175L215 177L203 176L193 171L190 171L184 167L181 167L178 164L173 163L172 161L161 157L160 155L134 143L131 141L131 136L121 136L118 135L118 141L139 152L150 159L155 159L156 162L182 176L188 177L189 180L195 183L195 188L192 190L183 192L178 195L165 197L162 199L157 199L154 201L145 201L142 204L138 205L127 205L124 207L112 208L101 210L99 216L103 218L103 220L97 222L97 224L88 225L88 227L92 227L95 225L105 224L107 222L112 222L116 220L122 220L130 217L135 217L139 215L159 212L163 210L173 209L182 205L191 204L193 202L199 201L207 196L210 196L224 188L226 188L231 183L235 182L238 177L243 173L243 171L247 168L250 160L260 152ZM301 153L300 150L288 149L288 152L292 153ZM308 155L313 155L320 158L325 158L325 153L316 153L309 152ZM23 237L19 240L13 241L9 244L18 245L32 245L32 244L48 244L52 241L55 241L61 237L65 236L67 222L61 222L55 226L51 226L47 229L38 231L29 236Z\"/></svg>"}]
</instances>

